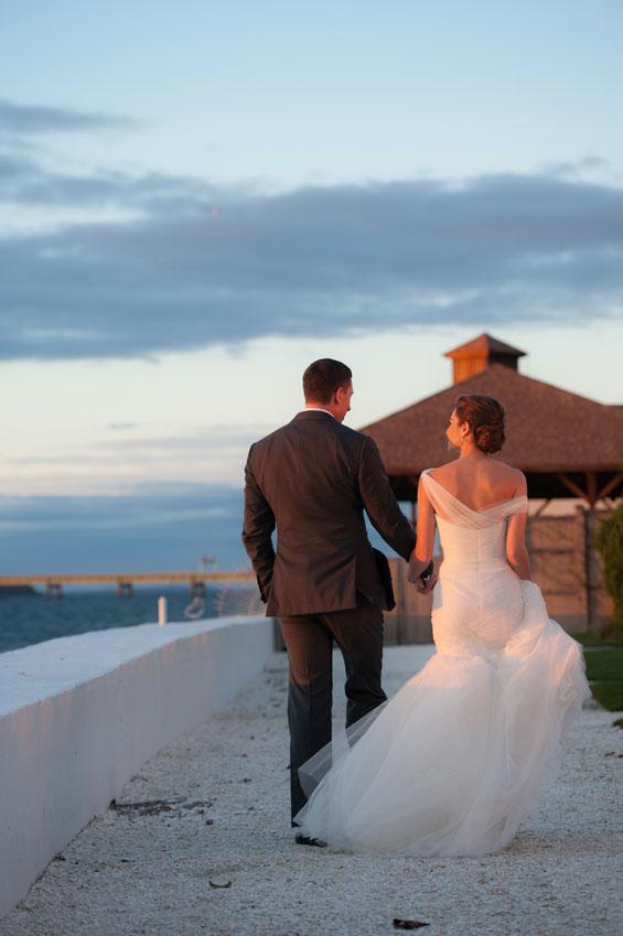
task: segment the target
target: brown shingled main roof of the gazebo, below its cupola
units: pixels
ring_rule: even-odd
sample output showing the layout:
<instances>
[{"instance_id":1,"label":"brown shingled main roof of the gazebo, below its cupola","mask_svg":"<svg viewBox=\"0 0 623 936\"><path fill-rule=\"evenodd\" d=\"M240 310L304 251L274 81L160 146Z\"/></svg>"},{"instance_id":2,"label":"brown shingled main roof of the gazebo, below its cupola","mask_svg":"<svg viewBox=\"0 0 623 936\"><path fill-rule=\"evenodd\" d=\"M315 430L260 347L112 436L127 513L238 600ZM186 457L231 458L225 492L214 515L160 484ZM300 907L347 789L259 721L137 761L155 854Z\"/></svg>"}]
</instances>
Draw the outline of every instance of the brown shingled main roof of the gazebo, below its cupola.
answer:
<instances>
[{"instance_id":1,"label":"brown shingled main roof of the gazebo, below its cupola","mask_svg":"<svg viewBox=\"0 0 623 936\"><path fill-rule=\"evenodd\" d=\"M503 364L490 364L362 429L377 442L389 475L417 476L455 458L448 452L444 431L460 394L485 394L504 405L507 441L501 458L524 472L622 469L623 408L561 390Z\"/></svg>"}]
</instances>

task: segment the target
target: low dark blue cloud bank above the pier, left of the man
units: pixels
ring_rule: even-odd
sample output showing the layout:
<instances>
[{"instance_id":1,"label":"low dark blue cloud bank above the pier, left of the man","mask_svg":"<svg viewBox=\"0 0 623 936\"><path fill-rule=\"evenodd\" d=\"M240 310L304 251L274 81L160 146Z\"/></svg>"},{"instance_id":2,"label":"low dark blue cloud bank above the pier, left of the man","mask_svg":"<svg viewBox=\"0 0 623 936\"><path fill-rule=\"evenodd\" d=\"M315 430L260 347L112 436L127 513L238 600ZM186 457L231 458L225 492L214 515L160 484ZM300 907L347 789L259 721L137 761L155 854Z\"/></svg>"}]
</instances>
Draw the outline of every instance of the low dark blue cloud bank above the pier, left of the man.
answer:
<instances>
[{"instance_id":1,"label":"low dark blue cloud bank above the pier, left of the man","mask_svg":"<svg viewBox=\"0 0 623 936\"><path fill-rule=\"evenodd\" d=\"M0 564L20 572L247 568L243 494L225 485L143 485L109 497L0 496Z\"/></svg>"}]
</instances>

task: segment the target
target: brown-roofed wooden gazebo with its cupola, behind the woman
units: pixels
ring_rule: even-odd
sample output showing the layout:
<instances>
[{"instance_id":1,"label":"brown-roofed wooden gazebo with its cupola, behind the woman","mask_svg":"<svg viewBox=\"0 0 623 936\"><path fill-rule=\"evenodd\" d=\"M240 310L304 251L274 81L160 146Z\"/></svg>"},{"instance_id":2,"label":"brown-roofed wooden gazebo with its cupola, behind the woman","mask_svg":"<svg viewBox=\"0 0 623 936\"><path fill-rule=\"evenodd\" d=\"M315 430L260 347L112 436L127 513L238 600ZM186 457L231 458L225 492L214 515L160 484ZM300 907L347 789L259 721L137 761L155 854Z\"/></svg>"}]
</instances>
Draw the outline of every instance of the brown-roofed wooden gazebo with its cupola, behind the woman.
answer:
<instances>
[{"instance_id":1,"label":"brown-roofed wooden gazebo with its cupola, behind the woman","mask_svg":"<svg viewBox=\"0 0 623 936\"><path fill-rule=\"evenodd\" d=\"M376 440L398 499L415 503L423 469L455 458L444 430L459 394L486 394L504 405L500 458L525 472L530 498L574 497L593 507L623 494L623 408L520 374L524 354L480 335L447 353L452 386L362 430Z\"/></svg>"}]
</instances>

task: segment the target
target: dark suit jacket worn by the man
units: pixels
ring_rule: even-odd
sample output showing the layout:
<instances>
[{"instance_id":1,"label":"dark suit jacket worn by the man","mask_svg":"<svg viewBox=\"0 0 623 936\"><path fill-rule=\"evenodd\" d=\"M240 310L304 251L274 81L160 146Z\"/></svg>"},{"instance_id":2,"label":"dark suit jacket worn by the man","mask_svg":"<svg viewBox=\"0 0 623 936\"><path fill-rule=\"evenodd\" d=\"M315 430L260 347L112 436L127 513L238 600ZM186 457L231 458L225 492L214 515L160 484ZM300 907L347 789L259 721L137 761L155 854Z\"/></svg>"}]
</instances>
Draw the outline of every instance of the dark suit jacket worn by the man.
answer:
<instances>
[{"instance_id":1,"label":"dark suit jacket worn by the man","mask_svg":"<svg viewBox=\"0 0 623 936\"><path fill-rule=\"evenodd\" d=\"M416 536L368 435L307 410L251 445L243 541L268 616L345 611L357 606L357 592L394 606L387 559L373 550L364 509L408 560Z\"/></svg>"}]
</instances>

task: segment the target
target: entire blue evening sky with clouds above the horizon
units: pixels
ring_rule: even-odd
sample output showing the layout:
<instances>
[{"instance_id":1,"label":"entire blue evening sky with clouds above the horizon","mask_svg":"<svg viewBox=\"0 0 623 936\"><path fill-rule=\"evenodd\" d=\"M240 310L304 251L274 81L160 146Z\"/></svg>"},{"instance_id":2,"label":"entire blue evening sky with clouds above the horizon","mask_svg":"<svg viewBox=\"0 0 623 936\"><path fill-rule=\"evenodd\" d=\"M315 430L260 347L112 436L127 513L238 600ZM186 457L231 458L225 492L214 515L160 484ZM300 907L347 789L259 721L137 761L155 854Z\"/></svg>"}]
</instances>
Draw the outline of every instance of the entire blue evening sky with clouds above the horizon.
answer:
<instances>
[{"instance_id":1,"label":"entire blue evening sky with clouds above the horizon","mask_svg":"<svg viewBox=\"0 0 623 936\"><path fill-rule=\"evenodd\" d=\"M355 428L483 331L623 402L622 39L613 0L4 0L0 568L243 568L316 357Z\"/></svg>"}]
</instances>

